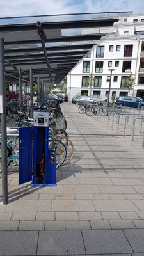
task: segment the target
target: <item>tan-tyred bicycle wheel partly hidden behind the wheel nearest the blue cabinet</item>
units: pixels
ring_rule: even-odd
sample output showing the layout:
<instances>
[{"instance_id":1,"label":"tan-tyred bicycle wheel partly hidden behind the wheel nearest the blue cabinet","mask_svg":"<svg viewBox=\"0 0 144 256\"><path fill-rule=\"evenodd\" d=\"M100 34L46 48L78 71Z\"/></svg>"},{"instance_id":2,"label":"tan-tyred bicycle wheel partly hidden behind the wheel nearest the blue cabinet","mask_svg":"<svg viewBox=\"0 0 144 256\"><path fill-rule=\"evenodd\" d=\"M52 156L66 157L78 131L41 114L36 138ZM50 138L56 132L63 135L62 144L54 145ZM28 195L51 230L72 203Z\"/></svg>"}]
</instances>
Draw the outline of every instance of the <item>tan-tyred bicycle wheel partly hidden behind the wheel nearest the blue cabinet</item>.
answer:
<instances>
[{"instance_id":1,"label":"tan-tyred bicycle wheel partly hidden behind the wheel nearest the blue cabinet","mask_svg":"<svg viewBox=\"0 0 144 256\"><path fill-rule=\"evenodd\" d=\"M67 136L58 135L58 136L56 136L56 139L63 142L63 144L65 145L66 150L67 150L67 156L65 158L65 161L62 164L62 166L63 166L63 165L70 163L70 161L72 160L72 157L74 157L74 144Z\"/></svg>"}]
</instances>

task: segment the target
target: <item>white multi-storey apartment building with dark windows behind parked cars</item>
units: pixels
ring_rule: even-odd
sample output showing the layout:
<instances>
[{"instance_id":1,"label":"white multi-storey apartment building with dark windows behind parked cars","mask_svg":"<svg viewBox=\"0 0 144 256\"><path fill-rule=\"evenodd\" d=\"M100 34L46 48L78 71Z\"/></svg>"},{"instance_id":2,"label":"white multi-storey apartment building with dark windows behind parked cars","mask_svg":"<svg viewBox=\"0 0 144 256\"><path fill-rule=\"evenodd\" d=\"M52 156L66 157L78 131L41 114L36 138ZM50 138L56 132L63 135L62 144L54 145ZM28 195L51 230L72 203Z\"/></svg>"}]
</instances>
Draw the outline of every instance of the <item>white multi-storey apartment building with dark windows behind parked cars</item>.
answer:
<instances>
[{"instance_id":1,"label":"white multi-storey apartment building with dark windows behind parked cars","mask_svg":"<svg viewBox=\"0 0 144 256\"><path fill-rule=\"evenodd\" d=\"M97 94L106 98L110 77L110 100L112 96L128 94L144 99L144 13L120 17L120 20L113 31L96 42L97 45L93 46L92 51L68 74L67 93L70 99L77 93ZM97 29L99 28L93 29L93 33L97 33ZM104 30L100 29L99 33L104 33ZM84 29L81 33L84 33ZM111 68L112 73L109 71ZM92 89L86 85L90 74L93 74L94 78ZM129 92L128 88L124 87L124 82L130 74L135 79L135 85Z\"/></svg>"}]
</instances>

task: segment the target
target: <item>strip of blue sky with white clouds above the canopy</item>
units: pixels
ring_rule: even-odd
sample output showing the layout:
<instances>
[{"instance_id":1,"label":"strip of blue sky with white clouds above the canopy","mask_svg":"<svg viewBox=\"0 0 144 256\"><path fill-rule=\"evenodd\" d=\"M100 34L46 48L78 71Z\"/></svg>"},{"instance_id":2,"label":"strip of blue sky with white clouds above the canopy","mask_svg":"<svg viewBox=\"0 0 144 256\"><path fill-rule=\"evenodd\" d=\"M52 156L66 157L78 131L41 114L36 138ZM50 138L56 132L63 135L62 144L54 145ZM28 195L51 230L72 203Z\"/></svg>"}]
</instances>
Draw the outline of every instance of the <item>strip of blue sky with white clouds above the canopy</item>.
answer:
<instances>
[{"instance_id":1,"label":"strip of blue sky with white clouds above the canopy","mask_svg":"<svg viewBox=\"0 0 144 256\"><path fill-rule=\"evenodd\" d=\"M0 0L0 6L0 17L87 12L144 13L143 0Z\"/></svg>"}]
</instances>

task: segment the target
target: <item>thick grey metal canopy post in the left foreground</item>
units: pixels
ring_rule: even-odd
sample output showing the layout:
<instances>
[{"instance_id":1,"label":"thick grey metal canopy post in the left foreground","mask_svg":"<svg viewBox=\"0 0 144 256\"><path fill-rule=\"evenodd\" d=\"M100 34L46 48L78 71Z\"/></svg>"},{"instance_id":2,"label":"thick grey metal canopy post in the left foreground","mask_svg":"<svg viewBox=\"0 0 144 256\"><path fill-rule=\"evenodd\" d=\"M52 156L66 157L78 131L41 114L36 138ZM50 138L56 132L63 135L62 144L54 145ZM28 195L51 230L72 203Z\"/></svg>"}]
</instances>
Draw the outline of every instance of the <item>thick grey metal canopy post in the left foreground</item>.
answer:
<instances>
[{"instance_id":1,"label":"thick grey metal canopy post in the left foreground","mask_svg":"<svg viewBox=\"0 0 144 256\"><path fill-rule=\"evenodd\" d=\"M2 154L2 193L3 204L8 204L8 168L6 137L6 96L4 76L4 39L0 38L0 97L1 97L1 154Z\"/></svg>"}]
</instances>

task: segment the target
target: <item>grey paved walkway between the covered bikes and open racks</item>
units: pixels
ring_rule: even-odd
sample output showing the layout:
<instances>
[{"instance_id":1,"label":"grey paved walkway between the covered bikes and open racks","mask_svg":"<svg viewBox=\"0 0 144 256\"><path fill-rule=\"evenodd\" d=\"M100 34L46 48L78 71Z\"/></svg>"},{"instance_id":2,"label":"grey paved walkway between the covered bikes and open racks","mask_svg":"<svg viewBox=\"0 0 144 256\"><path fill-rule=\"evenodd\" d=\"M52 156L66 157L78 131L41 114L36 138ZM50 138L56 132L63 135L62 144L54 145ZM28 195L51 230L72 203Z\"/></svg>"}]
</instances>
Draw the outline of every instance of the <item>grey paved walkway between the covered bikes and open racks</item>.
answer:
<instances>
[{"instance_id":1,"label":"grey paved walkway between the covered bikes and open racks","mask_svg":"<svg viewBox=\"0 0 144 256\"><path fill-rule=\"evenodd\" d=\"M56 187L19 186L17 168L9 170L9 203L0 205L0 255L143 256L141 136L132 141L81 115L74 104L61 107L74 159L58 168Z\"/></svg>"}]
</instances>

